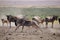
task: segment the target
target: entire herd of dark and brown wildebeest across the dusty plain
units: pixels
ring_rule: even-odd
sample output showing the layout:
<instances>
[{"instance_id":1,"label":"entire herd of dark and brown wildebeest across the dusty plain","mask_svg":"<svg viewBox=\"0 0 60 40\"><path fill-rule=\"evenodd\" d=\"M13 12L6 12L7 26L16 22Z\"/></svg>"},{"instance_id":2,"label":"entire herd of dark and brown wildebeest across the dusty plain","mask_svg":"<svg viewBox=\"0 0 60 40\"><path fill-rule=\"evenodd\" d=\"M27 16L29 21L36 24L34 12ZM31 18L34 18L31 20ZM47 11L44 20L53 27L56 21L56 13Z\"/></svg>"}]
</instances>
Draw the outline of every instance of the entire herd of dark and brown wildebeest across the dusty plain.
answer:
<instances>
[{"instance_id":1,"label":"entire herd of dark and brown wildebeest across the dusty plain","mask_svg":"<svg viewBox=\"0 0 60 40\"><path fill-rule=\"evenodd\" d=\"M51 22L52 23L52 28L53 28L53 24L55 20L58 20L59 24L60 24L60 18L56 15L54 16L48 16L45 17L44 19L41 18L40 16L34 16L32 17L31 20L29 20L29 18L26 18L26 16L24 16L23 18L19 18L17 16L13 16L13 15L6 15L7 20L5 19L1 19L2 24L4 25L4 23L9 23L10 24L10 28L11 28L11 22L15 23L16 29L15 31L22 26L22 31L24 29L24 26L32 26L36 29L39 29L39 24L43 24L45 22L46 24L46 28L48 27L48 23Z\"/></svg>"}]
</instances>

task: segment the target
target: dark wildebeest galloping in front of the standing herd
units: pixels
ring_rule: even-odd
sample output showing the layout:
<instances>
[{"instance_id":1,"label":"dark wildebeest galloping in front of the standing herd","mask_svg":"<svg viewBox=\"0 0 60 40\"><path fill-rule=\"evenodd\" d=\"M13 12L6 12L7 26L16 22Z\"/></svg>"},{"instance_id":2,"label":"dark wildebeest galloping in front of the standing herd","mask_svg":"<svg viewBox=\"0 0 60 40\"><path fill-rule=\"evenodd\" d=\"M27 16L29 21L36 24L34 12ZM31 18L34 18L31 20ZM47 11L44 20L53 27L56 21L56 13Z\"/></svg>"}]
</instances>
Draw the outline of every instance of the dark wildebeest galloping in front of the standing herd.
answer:
<instances>
[{"instance_id":1,"label":"dark wildebeest galloping in front of the standing herd","mask_svg":"<svg viewBox=\"0 0 60 40\"><path fill-rule=\"evenodd\" d=\"M32 20L32 21L27 21L27 20L24 20L24 19L17 19L16 25L17 25L17 27L16 27L15 31L16 31L20 26L22 26L22 31L23 31L23 29L24 29L24 26L28 26L28 27L32 26L32 27L34 27L34 28L36 28L36 29L39 28L39 25L38 25L37 22L34 21L34 20Z\"/></svg>"}]
</instances>

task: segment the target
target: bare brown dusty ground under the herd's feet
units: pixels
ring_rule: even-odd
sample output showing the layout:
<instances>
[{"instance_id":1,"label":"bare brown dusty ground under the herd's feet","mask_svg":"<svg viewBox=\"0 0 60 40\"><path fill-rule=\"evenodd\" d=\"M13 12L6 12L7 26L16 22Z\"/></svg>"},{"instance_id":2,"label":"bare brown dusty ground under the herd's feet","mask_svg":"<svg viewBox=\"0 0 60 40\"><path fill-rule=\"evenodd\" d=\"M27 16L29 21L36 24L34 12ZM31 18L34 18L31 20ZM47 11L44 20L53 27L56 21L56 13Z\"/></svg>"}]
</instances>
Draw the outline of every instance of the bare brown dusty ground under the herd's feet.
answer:
<instances>
[{"instance_id":1,"label":"bare brown dusty ground under the herd's feet","mask_svg":"<svg viewBox=\"0 0 60 40\"><path fill-rule=\"evenodd\" d=\"M49 25L48 28L41 26L41 29L35 31L35 28L25 27L21 32L21 27L14 32L15 27L0 27L0 40L60 40L60 25L54 24L54 28ZM40 31L42 30L42 32Z\"/></svg>"}]
</instances>

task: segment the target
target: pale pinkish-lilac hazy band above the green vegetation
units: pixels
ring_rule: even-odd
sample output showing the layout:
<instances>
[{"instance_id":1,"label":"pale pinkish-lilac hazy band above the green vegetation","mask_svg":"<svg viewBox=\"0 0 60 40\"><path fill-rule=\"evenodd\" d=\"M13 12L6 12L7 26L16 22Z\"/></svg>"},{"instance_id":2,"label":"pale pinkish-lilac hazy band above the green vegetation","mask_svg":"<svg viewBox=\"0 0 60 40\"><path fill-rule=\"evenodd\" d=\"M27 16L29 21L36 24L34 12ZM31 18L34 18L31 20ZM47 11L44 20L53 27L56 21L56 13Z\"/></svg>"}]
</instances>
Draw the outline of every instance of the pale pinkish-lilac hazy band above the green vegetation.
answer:
<instances>
[{"instance_id":1,"label":"pale pinkish-lilac hazy band above the green vegetation","mask_svg":"<svg viewBox=\"0 0 60 40\"><path fill-rule=\"evenodd\" d=\"M0 6L8 7L60 7L60 0L0 0Z\"/></svg>"}]
</instances>

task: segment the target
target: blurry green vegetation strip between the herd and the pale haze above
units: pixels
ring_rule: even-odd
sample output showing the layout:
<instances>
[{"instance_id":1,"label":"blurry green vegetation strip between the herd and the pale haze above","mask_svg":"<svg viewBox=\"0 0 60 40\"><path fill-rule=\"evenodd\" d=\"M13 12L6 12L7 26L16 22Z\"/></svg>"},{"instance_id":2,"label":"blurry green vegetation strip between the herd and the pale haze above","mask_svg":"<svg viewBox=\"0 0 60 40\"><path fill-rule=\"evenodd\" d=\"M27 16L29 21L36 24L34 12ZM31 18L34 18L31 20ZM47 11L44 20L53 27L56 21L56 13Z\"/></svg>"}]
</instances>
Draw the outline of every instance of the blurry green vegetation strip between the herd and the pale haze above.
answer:
<instances>
[{"instance_id":1,"label":"blurry green vegetation strip between the herd and the pale haze above","mask_svg":"<svg viewBox=\"0 0 60 40\"><path fill-rule=\"evenodd\" d=\"M47 15L58 15L60 16L60 8L15 8L15 7L0 7L0 15L19 15L24 14L28 17L38 15L45 17Z\"/></svg>"}]
</instances>

